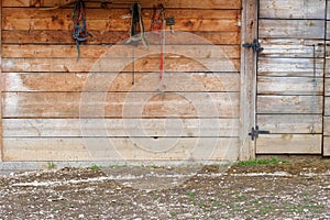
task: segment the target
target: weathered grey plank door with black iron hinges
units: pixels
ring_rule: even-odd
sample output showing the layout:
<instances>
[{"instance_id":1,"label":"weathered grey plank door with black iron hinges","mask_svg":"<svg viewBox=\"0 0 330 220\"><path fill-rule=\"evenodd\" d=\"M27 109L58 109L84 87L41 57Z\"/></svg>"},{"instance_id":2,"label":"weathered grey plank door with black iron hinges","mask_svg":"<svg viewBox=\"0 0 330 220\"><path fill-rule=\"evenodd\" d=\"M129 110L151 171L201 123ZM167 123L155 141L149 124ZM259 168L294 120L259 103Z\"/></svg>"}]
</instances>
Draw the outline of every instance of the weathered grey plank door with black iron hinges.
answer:
<instances>
[{"instance_id":1,"label":"weathered grey plank door with black iron hinges","mask_svg":"<svg viewBox=\"0 0 330 220\"><path fill-rule=\"evenodd\" d=\"M256 120L271 134L256 141L257 154L322 153L326 4L326 0L260 0L258 37L264 50L257 64ZM328 133L329 119L324 120Z\"/></svg>"}]
</instances>

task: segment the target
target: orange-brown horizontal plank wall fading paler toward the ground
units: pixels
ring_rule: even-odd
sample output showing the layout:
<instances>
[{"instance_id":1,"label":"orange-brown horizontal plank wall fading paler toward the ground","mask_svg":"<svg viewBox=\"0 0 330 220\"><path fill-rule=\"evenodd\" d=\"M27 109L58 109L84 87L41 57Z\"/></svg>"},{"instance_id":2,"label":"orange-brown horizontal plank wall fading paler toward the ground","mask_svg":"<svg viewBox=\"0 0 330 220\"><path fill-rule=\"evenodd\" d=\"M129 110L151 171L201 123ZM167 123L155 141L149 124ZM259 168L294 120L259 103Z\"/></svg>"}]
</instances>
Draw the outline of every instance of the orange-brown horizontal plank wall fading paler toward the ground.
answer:
<instances>
[{"instance_id":1,"label":"orange-brown horizontal plank wall fading paler toward the ground","mask_svg":"<svg viewBox=\"0 0 330 220\"><path fill-rule=\"evenodd\" d=\"M77 61L72 9L40 10L65 2L2 0L4 161L194 160L199 158L191 148L196 143L213 153L212 160L238 158L240 0L164 1L166 15L177 21L176 32L189 32L215 45L167 34L166 51L187 56L166 55L164 92L156 90L160 51L150 55L143 46L134 48L134 56L142 58L130 62L119 74L112 64L133 61L132 46L127 53L128 47L119 45L105 62L99 59L129 36L130 19L123 19L129 6L106 10L99 3L87 3L87 25L94 37L80 46ZM146 31L156 3L141 0ZM215 47L220 55L212 53ZM226 67L228 61L231 68ZM90 78L95 82L89 88ZM107 85L109 78L113 80ZM304 80L308 81L304 78L301 84ZM84 105L81 91L90 96ZM100 103L99 97L106 102ZM103 114L79 119L81 111L100 105ZM109 150L109 142L114 147ZM139 143L148 143L151 148L138 147ZM164 143L172 148L157 148Z\"/></svg>"}]
</instances>

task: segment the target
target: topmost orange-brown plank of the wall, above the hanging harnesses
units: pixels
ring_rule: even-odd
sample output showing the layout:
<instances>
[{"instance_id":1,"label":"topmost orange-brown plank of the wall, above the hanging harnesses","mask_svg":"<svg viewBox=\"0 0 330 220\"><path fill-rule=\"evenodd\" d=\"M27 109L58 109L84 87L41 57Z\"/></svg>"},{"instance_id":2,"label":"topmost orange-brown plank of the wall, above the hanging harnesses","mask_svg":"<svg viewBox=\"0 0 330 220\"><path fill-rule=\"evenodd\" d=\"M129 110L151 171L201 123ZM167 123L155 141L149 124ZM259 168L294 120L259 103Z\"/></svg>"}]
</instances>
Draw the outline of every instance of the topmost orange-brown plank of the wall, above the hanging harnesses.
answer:
<instances>
[{"instance_id":1,"label":"topmost orange-brown plank of the wall, above the hanging harnesses","mask_svg":"<svg viewBox=\"0 0 330 220\"><path fill-rule=\"evenodd\" d=\"M67 0L3 0L3 7L56 7L66 4ZM154 0L139 0L143 8L153 8L155 4ZM241 1L233 0L205 0L200 1L190 1L190 0L177 0L177 1L164 1L162 2L164 8L172 8L172 9L241 9ZM91 6L100 6L100 3L91 4ZM111 4L110 4L111 6ZM87 4L87 7L90 7ZM124 8L129 8L129 6L124 6Z\"/></svg>"}]
</instances>

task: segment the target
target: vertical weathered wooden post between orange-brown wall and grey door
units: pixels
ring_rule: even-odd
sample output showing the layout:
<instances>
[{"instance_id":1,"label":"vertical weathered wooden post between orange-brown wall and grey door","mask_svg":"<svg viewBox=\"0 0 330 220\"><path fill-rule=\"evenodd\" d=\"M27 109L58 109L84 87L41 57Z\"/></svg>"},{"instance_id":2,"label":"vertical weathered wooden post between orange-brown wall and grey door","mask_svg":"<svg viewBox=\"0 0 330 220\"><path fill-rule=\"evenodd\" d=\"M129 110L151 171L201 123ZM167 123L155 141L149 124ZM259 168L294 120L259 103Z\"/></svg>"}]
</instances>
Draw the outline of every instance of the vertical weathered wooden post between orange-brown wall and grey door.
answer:
<instances>
[{"instance_id":1,"label":"vertical weathered wooden post between orange-brown wall and grey door","mask_svg":"<svg viewBox=\"0 0 330 220\"><path fill-rule=\"evenodd\" d=\"M257 4L254 0L242 1L242 43L257 38ZM240 96L240 160L255 157L255 143L249 130L255 125L256 55L252 50L241 50L241 96Z\"/></svg>"}]
</instances>

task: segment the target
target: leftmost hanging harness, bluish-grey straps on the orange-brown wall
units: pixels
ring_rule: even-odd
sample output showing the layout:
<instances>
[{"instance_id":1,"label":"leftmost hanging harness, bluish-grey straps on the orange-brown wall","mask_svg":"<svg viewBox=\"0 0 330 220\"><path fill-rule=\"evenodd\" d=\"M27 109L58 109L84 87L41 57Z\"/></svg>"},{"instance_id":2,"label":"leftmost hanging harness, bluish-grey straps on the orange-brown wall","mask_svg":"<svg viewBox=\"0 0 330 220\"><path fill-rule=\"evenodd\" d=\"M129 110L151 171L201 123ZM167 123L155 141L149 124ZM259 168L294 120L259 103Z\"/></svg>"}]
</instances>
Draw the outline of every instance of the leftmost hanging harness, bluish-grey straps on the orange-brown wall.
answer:
<instances>
[{"instance_id":1,"label":"leftmost hanging harness, bluish-grey straps on the orange-brown wall","mask_svg":"<svg viewBox=\"0 0 330 220\"><path fill-rule=\"evenodd\" d=\"M74 22L73 38L76 41L77 44L77 53L78 53L77 58L80 57L80 43L86 42L88 40L88 35L90 35L86 25L85 9L86 9L85 2L82 0L77 0L73 11L73 22Z\"/></svg>"}]
</instances>

